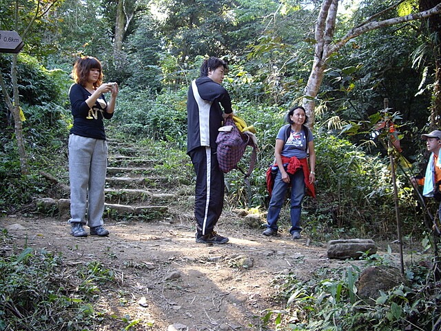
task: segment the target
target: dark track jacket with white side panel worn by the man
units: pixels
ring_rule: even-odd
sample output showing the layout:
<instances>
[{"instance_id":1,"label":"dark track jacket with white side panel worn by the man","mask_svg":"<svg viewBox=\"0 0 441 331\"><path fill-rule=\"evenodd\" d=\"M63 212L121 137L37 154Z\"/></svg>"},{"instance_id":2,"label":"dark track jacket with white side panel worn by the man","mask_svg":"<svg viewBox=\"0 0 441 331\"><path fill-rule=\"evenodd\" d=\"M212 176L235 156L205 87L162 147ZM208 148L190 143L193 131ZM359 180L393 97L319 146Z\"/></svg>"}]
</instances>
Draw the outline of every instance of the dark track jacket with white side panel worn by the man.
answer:
<instances>
[{"instance_id":1,"label":"dark track jacket with white side panel worn by the man","mask_svg":"<svg viewBox=\"0 0 441 331\"><path fill-rule=\"evenodd\" d=\"M193 86L190 86L187 99L187 153L201 146L216 148L218 128L223 121L220 105L225 114L233 112L231 98L223 86L209 77L199 77L195 83L201 99L196 101Z\"/></svg>"}]
</instances>

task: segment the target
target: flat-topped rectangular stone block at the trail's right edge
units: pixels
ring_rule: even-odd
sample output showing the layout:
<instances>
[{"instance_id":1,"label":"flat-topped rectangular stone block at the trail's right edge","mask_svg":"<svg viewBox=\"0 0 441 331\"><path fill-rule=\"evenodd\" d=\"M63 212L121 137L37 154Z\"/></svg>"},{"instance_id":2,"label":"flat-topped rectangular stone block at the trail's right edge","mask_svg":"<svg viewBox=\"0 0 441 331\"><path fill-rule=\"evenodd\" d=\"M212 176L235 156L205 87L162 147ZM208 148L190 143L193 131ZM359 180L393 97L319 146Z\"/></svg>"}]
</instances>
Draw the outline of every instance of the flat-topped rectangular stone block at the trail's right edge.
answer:
<instances>
[{"instance_id":1,"label":"flat-topped rectangular stone block at the trail's right edge","mask_svg":"<svg viewBox=\"0 0 441 331\"><path fill-rule=\"evenodd\" d=\"M372 239L330 240L327 244L329 259L358 259L363 254L376 254L377 247Z\"/></svg>"}]
</instances>

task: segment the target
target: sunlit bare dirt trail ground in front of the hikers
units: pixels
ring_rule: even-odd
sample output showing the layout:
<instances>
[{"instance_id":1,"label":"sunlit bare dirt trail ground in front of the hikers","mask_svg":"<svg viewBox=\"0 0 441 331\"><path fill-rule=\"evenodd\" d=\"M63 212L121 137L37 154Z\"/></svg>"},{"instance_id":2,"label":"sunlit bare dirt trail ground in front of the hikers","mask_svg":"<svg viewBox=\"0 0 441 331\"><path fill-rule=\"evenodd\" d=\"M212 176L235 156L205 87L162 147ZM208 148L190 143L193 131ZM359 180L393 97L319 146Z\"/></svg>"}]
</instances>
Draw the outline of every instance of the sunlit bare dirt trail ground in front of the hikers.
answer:
<instances>
[{"instance_id":1,"label":"sunlit bare dirt trail ground in front of the hikers","mask_svg":"<svg viewBox=\"0 0 441 331\"><path fill-rule=\"evenodd\" d=\"M122 330L125 315L141 320L130 330L260 330L265 310L284 308L276 299L279 274L306 280L319 268L349 264L327 259L326 248L306 238L267 238L237 221L224 212L218 223L226 245L196 243L192 221L106 221L107 238L74 238L57 217L6 217L0 228L17 245L61 252L72 267L99 261L116 271L119 285L103 288L96 307L105 319L91 330Z\"/></svg>"}]
</instances>

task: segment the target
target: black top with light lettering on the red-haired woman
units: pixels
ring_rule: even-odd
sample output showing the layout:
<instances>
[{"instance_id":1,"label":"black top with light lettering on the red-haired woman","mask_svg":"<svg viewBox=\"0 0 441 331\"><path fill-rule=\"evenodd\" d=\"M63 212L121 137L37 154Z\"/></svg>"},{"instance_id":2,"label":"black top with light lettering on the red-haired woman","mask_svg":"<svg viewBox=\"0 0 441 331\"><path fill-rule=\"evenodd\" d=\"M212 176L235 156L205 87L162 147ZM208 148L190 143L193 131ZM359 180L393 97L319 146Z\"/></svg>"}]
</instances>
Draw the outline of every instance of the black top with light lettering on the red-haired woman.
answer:
<instances>
[{"instance_id":1,"label":"black top with light lettering on the red-haired woman","mask_svg":"<svg viewBox=\"0 0 441 331\"><path fill-rule=\"evenodd\" d=\"M92 110L85 101L91 96L90 92L79 84L73 84L69 89L70 105L74 126L70 129L71 134L81 137L105 140L104 119L111 119L113 112L107 112L107 103L104 94L96 100ZM102 105L99 100L102 100Z\"/></svg>"}]
</instances>

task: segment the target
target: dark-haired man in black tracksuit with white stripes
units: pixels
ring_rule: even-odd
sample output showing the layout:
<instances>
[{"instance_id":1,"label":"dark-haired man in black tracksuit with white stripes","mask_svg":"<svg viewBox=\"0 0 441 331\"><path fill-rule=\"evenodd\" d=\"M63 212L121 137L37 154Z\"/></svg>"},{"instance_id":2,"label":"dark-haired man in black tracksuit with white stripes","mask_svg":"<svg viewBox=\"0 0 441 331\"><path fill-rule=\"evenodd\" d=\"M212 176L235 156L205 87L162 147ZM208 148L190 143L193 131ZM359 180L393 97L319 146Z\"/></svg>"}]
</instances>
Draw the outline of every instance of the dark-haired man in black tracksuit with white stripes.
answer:
<instances>
[{"instance_id":1,"label":"dark-haired man in black tracksuit with white stripes","mask_svg":"<svg viewBox=\"0 0 441 331\"><path fill-rule=\"evenodd\" d=\"M223 172L216 157L216 137L223 119L233 114L229 94L220 85L227 69L227 63L217 57L205 59L201 77L192 81L188 90L187 154L196 172L196 243L228 242L228 238L214 232L225 192Z\"/></svg>"}]
</instances>

